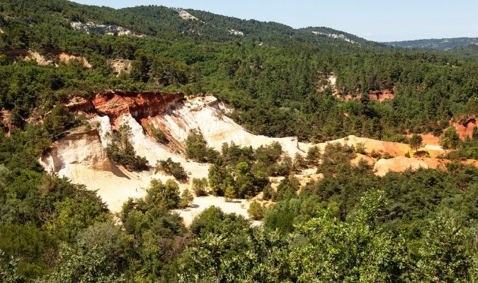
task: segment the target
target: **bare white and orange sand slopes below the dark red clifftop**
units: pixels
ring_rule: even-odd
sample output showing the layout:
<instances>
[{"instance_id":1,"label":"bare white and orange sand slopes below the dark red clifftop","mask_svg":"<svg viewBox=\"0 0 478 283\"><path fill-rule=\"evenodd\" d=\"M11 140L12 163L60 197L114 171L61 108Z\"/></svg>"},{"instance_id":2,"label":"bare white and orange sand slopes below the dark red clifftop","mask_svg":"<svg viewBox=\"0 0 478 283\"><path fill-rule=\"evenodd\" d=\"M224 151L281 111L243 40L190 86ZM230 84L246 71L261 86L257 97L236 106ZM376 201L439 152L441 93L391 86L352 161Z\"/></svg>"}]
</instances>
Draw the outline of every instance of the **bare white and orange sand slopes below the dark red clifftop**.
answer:
<instances>
[{"instance_id":1,"label":"bare white and orange sand slopes below the dark red clifftop","mask_svg":"<svg viewBox=\"0 0 478 283\"><path fill-rule=\"evenodd\" d=\"M224 143L234 142L241 146L257 148L278 141L283 146L285 153L290 156L294 156L296 153L305 156L309 147L314 146L298 142L295 137L271 138L251 134L224 115L228 111L227 106L214 96L205 96L190 98L178 103L174 108L165 110L154 117L147 117L142 121L138 121L127 112L123 113L115 122L110 121L108 116L90 115L92 129L78 129L67 137L56 141L50 151L40 158L40 162L47 171L55 171L59 175L71 179L73 183L84 184L89 190L97 190L98 195L108 204L108 208L112 212L119 212L129 197L144 197L145 188L148 187L152 178L166 181L172 177L161 173L154 174L153 171L129 172L110 162L106 154L107 133L111 132L113 127L129 125L132 129L132 144L138 155L146 157L151 166L154 166L158 160L172 158L173 161L183 165L190 180L207 177L209 165L190 161L177 150L171 150L163 144L159 144L144 131L141 122L161 127L180 144L186 141L190 129L200 129L209 146L217 150L220 150ZM426 140L428 141L428 139ZM356 163L360 158L364 158L374 166L377 175L385 175L388 171L404 171L407 168L443 168L447 162L437 158L405 158L404 155L411 151L407 144L355 136L329 142L338 142L349 146L362 143L365 146L365 151L369 153L375 150L394 156L394 158L377 161L375 158L358 154L353 162ZM319 146L323 150L326 143L315 144L315 146ZM426 144L423 149L432 149L432 157L443 154L443 149L438 144ZM320 177L321 175L317 174L313 168L297 174L302 185L309 181L319 180ZM275 180L275 183L277 181ZM180 183L181 191L189 187L190 183ZM223 197L214 196L195 197L191 207L178 210L178 213L181 214L186 225L190 224L203 209L212 205L220 207L224 212L234 212L247 217L250 202L251 200L226 202Z\"/></svg>"}]
</instances>

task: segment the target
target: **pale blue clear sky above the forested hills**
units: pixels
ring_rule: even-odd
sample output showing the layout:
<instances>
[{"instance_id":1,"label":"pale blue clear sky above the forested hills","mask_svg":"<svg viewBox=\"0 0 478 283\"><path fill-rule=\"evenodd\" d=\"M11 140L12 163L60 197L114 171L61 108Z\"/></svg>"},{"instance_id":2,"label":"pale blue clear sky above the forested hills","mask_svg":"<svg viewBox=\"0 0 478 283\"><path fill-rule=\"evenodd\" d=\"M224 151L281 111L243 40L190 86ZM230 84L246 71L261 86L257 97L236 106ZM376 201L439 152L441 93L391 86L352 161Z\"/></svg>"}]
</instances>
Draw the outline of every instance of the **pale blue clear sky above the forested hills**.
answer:
<instances>
[{"instance_id":1,"label":"pale blue clear sky above the forested hills","mask_svg":"<svg viewBox=\"0 0 478 283\"><path fill-rule=\"evenodd\" d=\"M325 26L378 42L478 37L478 0L75 0L125 8L194 8L224 16L275 21L293 28Z\"/></svg>"}]
</instances>

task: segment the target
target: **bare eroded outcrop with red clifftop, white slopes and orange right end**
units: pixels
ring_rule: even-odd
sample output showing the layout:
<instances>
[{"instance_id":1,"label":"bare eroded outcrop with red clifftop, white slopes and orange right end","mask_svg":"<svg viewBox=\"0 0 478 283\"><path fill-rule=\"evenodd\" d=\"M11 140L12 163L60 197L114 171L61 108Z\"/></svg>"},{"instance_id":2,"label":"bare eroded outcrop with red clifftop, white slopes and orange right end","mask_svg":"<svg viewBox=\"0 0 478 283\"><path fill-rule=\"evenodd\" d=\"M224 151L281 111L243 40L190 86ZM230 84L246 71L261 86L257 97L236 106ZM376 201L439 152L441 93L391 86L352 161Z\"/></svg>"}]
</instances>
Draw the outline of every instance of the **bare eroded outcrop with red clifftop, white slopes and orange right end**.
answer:
<instances>
[{"instance_id":1,"label":"bare eroded outcrop with red clifftop, white slopes and orange right end","mask_svg":"<svg viewBox=\"0 0 478 283\"><path fill-rule=\"evenodd\" d=\"M187 97L183 93L134 93L118 92L98 93L91 98L74 98L67 104L73 112L79 112L89 120L89 127L81 127L62 139L55 141L50 149L40 158L40 163L49 172L56 172L67 177L73 183L86 185L89 190L97 190L112 212L119 212L129 197L143 197L150 180L157 178L166 181L172 178L153 171L130 172L122 166L111 162L106 154L108 137L121 125L131 128L131 143L137 155L147 158L150 166L158 160L171 158L181 163L188 172L189 179L207 177L209 165L188 160L183 154L188 134L193 129L203 133L208 146L220 151L222 144L234 143L240 146L261 145L277 141L285 154L305 156L311 146L318 146L321 151L329 143L348 146L363 146L365 154L357 154L352 161L357 164L365 159L373 166L377 175L389 171L405 171L409 168L445 168L443 159L436 158L443 154L438 144L426 144L424 150L433 152L434 158L406 158L411 151L408 144L379 141L362 137L348 136L320 144L300 142L297 137L272 138L251 134L238 125L227 113L232 111L228 105L212 95ZM161 144L149 133L151 126L161 129L169 139L168 144ZM433 139L429 139L435 141ZM431 150L433 149L433 150ZM372 158L370 153L384 158ZM477 164L478 165L478 164ZM301 184L319 180L317 170L309 168L297 173ZM180 190L190 188L187 183L179 183ZM194 216L211 205L220 207L224 212L235 212L248 216L247 209L252 200L226 202L224 197L195 197L191 207L178 209L186 225Z\"/></svg>"}]
</instances>

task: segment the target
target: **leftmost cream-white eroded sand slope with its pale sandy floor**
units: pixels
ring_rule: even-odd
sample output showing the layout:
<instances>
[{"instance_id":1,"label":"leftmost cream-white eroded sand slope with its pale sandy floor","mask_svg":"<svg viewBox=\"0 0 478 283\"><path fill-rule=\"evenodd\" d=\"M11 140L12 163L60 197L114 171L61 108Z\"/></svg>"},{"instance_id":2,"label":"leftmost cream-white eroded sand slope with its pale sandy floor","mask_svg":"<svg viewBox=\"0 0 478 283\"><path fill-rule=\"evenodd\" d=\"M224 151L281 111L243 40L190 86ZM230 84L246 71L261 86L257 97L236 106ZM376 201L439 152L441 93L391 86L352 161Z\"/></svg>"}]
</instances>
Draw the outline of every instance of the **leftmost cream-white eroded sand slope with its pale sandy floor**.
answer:
<instances>
[{"instance_id":1,"label":"leftmost cream-white eroded sand slope with its pale sandy floor","mask_svg":"<svg viewBox=\"0 0 478 283\"><path fill-rule=\"evenodd\" d=\"M154 174L152 171L132 173L115 166L106 154L107 133L112 130L109 118L94 117L91 124L99 125L98 134L70 135L55 142L52 151L40 159L47 171L55 171L72 180L72 183L84 184L89 190L97 190L98 195L108 204L112 212L119 212L129 197L144 197L145 189L152 178L164 182L171 179L171 176L161 173ZM150 165L154 165L160 159L172 158L173 161L181 162L190 177L207 177L209 168L207 164L187 161L183 156L169 151L166 146L158 144L144 134L141 125L131 115L121 117L120 125L131 127L132 144L138 155L147 157ZM182 192L190 187L190 183L180 183L179 187ZM188 225L194 216L212 205L220 207L224 212L243 216L247 216L249 208L246 200L225 202L223 197L207 196L196 197L191 207L178 212Z\"/></svg>"}]
</instances>

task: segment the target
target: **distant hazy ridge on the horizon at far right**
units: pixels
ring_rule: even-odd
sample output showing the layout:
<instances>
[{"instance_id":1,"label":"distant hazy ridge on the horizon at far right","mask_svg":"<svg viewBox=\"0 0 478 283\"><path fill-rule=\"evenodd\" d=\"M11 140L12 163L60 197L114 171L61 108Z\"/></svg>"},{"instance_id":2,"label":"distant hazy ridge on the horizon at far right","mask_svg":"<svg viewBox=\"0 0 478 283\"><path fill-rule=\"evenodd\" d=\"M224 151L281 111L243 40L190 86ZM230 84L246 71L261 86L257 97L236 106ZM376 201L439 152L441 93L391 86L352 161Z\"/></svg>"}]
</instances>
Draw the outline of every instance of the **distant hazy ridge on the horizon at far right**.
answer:
<instances>
[{"instance_id":1,"label":"distant hazy ridge on the horizon at far right","mask_svg":"<svg viewBox=\"0 0 478 283\"><path fill-rule=\"evenodd\" d=\"M428 40L406 40L384 42L385 45L392 45L396 47L405 48L421 48L433 50L452 50L456 47L464 47L467 45L478 45L478 37L455 37L442 39L428 39Z\"/></svg>"}]
</instances>

